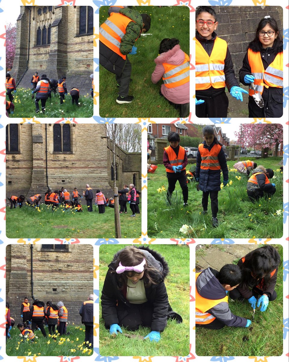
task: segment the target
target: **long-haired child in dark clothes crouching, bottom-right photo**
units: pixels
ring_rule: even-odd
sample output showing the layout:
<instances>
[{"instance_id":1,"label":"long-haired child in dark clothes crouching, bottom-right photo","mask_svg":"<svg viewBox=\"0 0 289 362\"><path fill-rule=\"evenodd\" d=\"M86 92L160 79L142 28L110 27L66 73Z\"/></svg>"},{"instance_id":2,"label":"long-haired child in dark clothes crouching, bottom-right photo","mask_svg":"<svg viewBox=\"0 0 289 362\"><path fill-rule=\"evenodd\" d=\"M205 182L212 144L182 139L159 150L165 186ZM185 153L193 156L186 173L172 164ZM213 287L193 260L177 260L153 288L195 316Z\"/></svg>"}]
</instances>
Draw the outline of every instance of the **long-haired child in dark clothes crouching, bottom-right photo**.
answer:
<instances>
[{"instance_id":1,"label":"long-haired child in dark clothes crouching, bottom-right photo","mask_svg":"<svg viewBox=\"0 0 289 362\"><path fill-rule=\"evenodd\" d=\"M240 301L247 299L253 310L258 298L257 307L261 312L266 311L269 301L277 298L275 285L279 264L280 255L272 245L265 245L245 255L237 263L243 281L234 291L230 291L230 298Z\"/></svg>"}]
</instances>

